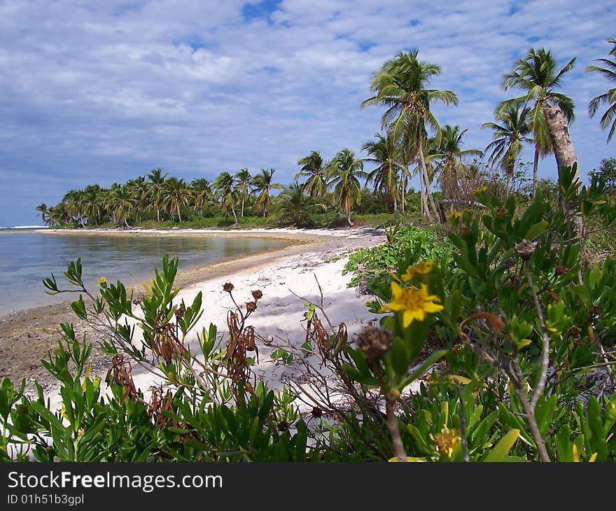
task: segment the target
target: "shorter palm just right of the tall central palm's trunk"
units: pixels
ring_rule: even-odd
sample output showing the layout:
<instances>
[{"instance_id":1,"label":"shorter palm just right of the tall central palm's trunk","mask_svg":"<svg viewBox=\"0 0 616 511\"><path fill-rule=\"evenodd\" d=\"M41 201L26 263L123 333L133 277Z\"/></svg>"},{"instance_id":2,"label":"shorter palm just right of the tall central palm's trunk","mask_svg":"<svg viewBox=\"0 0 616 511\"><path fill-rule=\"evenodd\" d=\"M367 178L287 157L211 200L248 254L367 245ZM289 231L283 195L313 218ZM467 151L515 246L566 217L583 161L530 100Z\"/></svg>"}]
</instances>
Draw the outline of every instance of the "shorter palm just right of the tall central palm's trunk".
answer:
<instances>
[{"instance_id":1,"label":"shorter palm just right of the tall central palm's trunk","mask_svg":"<svg viewBox=\"0 0 616 511\"><path fill-rule=\"evenodd\" d=\"M460 195L460 180L464 179L466 165L463 160L468 156L483 156L477 149L462 150L462 139L468 130L460 130L458 125L444 125L440 137L435 139L437 144L435 160L436 170L440 172L440 186L447 197L457 198Z\"/></svg>"}]
</instances>

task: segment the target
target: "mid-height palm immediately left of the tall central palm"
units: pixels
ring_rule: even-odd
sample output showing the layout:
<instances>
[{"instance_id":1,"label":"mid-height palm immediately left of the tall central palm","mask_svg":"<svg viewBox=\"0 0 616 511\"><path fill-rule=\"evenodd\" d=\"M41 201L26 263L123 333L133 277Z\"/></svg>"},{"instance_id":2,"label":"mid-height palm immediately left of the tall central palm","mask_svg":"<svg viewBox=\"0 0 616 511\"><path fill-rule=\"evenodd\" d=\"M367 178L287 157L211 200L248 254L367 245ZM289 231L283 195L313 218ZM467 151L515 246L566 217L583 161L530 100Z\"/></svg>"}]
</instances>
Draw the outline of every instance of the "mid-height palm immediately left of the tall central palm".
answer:
<instances>
[{"instance_id":1,"label":"mid-height palm immediately left of the tall central palm","mask_svg":"<svg viewBox=\"0 0 616 511\"><path fill-rule=\"evenodd\" d=\"M405 166L398 161L398 151L391 137L377 133L377 139L366 142L361 150L366 151L368 158L364 162L372 162L377 167L367 174L366 183L374 182L374 190L378 190L393 201L393 218L398 222L398 183L401 181Z\"/></svg>"}]
</instances>

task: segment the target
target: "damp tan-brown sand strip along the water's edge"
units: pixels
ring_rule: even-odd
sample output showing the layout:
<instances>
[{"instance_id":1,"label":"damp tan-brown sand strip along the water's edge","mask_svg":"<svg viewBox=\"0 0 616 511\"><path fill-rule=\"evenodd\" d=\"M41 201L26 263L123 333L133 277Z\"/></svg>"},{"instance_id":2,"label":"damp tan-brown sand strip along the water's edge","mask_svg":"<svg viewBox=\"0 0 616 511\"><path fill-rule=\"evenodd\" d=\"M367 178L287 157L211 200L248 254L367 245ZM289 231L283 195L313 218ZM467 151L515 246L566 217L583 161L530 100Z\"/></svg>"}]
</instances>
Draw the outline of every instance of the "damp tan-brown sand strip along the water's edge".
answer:
<instances>
[{"instance_id":1,"label":"damp tan-brown sand strip along the water's edge","mask_svg":"<svg viewBox=\"0 0 616 511\"><path fill-rule=\"evenodd\" d=\"M65 232L49 232L50 234L69 234ZM85 231L78 232L80 235ZM359 233L359 234L358 234ZM87 234L109 234L109 231L87 231ZM117 235L143 235L134 230L116 231ZM195 289L206 288L214 281L236 279L238 276L255 276L269 274L276 267L319 266L323 261L337 258L341 253L366 242L379 239L382 232L372 228L356 228L349 230L242 230L239 232L211 232L211 230L165 230L164 232L146 231L146 235L231 235L243 237L267 237L284 239L288 244L268 251L239 255L227 258L203 267L180 270L176 284L181 287L181 294L192 293ZM375 236L376 235L376 236ZM361 240L358 238L362 238ZM319 262L305 262L307 257L318 259ZM127 289L130 286L125 282ZM354 291L353 291L354 292ZM57 333L59 323L69 322L75 325L78 338L83 337L87 328L73 314L70 302L74 297L68 297L58 304L44 305L20 309L0 316L0 378L9 377L15 384L22 377L27 379L27 389L34 388L33 379L42 384L43 390L49 391L57 383L43 369L40 359L48 358L48 351L57 348L60 339ZM226 312L225 312L226 314ZM281 318L282 319L282 318ZM218 325L222 327L223 325ZM90 335L88 341L94 344L92 350L93 373L104 374L109 365L109 357L99 353L96 339Z\"/></svg>"}]
</instances>

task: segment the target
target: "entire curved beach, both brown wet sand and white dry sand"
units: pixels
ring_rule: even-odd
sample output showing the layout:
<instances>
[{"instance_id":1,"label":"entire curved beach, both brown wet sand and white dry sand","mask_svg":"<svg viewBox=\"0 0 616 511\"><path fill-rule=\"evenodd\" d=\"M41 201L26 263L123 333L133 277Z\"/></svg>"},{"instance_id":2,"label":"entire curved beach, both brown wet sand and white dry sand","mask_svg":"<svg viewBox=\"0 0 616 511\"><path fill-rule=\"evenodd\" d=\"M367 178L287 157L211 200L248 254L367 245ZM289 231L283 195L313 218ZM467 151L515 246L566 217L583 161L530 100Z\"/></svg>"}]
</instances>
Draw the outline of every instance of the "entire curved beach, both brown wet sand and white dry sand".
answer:
<instances>
[{"instance_id":1,"label":"entire curved beach, both brown wet sand and white dry sand","mask_svg":"<svg viewBox=\"0 0 616 511\"><path fill-rule=\"evenodd\" d=\"M251 324L258 335L285 339L293 344L303 342L302 318L304 302L296 295L316 300L320 284L325 296L328 315L334 323L344 322L349 328L349 339L361 325L374 319L365 307L365 296L355 289L347 288L351 275L342 275L346 254L354 248L374 246L384 241L384 233L374 228L340 230L124 230L81 231L79 234L138 235L220 235L281 238L288 245L274 251L256 253L246 257L223 260L206 267L182 271L179 269L177 283L181 286L178 300L189 302L201 291L204 315L193 330L193 337L202 327L214 323L219 334L225 333L227 311L232 307L228 293L223 291L225 282L232 282L238 300L250 297L251 290L263 293L258 310L251 316ZM48 231L50 235L62 235L62 231ZM317 283L318 281L318 283ZM125 279L130 284L130 278ZM134 284L134 283L132 283ZM136 290L136 292L138 292ZM74 299L74 297L70 297ZM8 377L15 382L26 378L29 391L34 389L36 379L43 389L52 393L56 381L43 369L40 360L47 358L50 349L57 347L59 323L76 325L78 335L89 334L93 342L92 370L104 374L109 367L109 357L97 349L97 343L87 325L71 311L70 300L45 307L14 311L0 318L0 378ZM192 338L189 337L188 341ZM275 384L283 377L286 368L269 358L269 346L259 346L260 364L255 372ZM148 386L148 374L136 372L135 381L142 388Z\"/></svg>"}]
</instances>

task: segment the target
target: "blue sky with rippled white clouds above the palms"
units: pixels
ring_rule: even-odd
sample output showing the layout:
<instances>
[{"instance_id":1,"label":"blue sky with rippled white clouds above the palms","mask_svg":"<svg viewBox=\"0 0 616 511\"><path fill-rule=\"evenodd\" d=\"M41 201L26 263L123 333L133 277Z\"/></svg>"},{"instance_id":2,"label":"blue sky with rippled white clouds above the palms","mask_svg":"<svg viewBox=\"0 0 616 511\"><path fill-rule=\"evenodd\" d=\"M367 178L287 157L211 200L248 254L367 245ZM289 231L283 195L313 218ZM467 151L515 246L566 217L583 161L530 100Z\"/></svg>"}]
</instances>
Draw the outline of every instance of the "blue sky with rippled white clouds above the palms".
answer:
<instances>
[{"instance_id":1,"label":"blue sky with rippled white clouds above the palms","mask_svg":"<svg viewBox=\"0 0 616 511\"><path fill-rule=\"evenodd\" d=\"M0 0L0 227L36 225L35 207L155 167L188 181L246 167L288 184L297 160L360 148L382 109L360 109L372 73L400 51L438 64L430 87L458 106L440 123L483 149L500 76L530 48L552 50L575 101L583 175L606 144L589 99L612 84L585 73L616 37L616 3L588 0ZM522 160L532 160L528 148ZM549 157L540 176L554 177Z\"/></svg>"}]
</instances>

